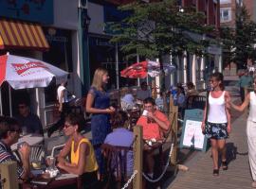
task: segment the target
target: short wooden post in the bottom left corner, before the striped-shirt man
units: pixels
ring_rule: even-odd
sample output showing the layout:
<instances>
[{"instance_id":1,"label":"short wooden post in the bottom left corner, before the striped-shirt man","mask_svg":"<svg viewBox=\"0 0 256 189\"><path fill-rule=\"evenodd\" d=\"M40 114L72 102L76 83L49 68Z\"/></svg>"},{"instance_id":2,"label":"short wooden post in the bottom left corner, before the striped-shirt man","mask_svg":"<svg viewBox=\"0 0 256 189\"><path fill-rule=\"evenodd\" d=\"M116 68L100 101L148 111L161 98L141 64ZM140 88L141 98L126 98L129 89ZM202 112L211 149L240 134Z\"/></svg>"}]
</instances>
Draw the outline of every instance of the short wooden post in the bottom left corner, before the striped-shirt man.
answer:
<instances>
[{"instance_id":1,"label":"short wooden post in the bottom left corner, before the striped-shirt man","mask_svg":"<svg viewBox=\"0 0 256 189\"><path fill-rule=\"evenodd\" d=\"M3 186L3 189L19 188L16 162L9 161L6 163L0 163L0 175L0 183Z\"/></svg>"}]
</instances>

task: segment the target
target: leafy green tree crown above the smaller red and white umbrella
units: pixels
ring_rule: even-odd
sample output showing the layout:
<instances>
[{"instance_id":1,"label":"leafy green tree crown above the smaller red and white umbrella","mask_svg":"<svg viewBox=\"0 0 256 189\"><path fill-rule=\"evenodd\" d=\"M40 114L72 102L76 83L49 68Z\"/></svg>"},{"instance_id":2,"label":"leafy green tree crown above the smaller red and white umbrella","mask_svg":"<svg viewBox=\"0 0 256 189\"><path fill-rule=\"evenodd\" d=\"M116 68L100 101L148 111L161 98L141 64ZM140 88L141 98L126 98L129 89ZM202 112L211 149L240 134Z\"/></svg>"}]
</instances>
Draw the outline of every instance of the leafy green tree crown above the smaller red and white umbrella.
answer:
<instances>
[{"instance_id":1,"label":"leafy green tree crown above the smaller red and white umbrella","mask_svg":"<svg viewBox=\"0 0 256 189\"><path fill-rule=\"evenodd\" d=\"M193 8L182 12L175 0L136 1L119 9L130 12L130 16L112 24L117 34L111 42L122 43L121 50L129 56L138 54L151 59L171 50L174 54L187 50L200 55L209 46L210 42L202 37L192 37L192 33L212 32L213 27L204 24L204 13Z\"/></svg>"}]
</instances>

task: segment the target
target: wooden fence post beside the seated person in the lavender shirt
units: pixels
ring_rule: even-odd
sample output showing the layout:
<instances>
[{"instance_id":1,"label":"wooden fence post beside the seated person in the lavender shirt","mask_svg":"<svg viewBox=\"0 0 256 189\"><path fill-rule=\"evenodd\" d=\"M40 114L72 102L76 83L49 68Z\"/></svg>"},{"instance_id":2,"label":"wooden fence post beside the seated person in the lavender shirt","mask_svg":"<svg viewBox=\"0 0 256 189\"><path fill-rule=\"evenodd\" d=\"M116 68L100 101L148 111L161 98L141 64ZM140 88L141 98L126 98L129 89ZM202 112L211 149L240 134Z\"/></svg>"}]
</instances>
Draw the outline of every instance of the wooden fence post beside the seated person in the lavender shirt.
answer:
<instances>
[{"instance_id":1,"label":"wooden fence post beside the seated person in the lavender shirt","mask_svg":"<svg viewBox=\"0 0 256 189\"><path fill-rule=\"evenodd\" d=\"M142 141L142 128L139 126L134 127L134 136L136 137L134 143L134 170L137 170L137 175L133 180L133 188L142 188L142 153L143 153L143 141Z\"/></svg>"}]
</instances>

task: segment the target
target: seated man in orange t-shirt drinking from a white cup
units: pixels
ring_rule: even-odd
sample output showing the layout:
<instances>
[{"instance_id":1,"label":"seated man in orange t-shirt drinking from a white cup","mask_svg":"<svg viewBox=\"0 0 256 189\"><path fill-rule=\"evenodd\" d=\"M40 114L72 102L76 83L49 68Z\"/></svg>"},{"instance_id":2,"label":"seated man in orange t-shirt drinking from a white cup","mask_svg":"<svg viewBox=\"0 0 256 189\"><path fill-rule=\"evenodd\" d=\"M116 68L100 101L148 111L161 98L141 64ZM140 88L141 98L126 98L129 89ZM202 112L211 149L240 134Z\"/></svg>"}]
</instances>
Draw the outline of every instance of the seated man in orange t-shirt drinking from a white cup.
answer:
<instances>
[{"instance_id":1,"label":"seated man in orange t-shirt drinking from a white cup","mask_svg":"<svg viewBox=\"0 0 256 189\"><path fill-rule=\"evenodd\" d=\"M163 134L170 128L168 117L156 110L155 100L152 97L144 99L144 112L137 120L137 125L143 129L144 140L161 140ZM145 152L145 161L148 166L148 175L153 178L154 172L154 150L149 148Z\"/></svg>"}]
</instances>

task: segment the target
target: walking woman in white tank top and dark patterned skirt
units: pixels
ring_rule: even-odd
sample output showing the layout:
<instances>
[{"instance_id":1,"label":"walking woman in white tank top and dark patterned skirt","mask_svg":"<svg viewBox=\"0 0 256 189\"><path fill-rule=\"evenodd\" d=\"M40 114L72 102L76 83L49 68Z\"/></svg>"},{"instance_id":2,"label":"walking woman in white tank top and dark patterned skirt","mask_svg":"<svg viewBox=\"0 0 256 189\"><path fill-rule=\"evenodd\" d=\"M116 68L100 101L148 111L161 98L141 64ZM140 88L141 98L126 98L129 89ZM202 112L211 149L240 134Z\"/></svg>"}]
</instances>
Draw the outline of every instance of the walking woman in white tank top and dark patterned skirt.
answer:
<instances>
[{"instance_id":1,"label":"walking woman in white tank top and dark patterned skirt","mask_svg":"<svg viewBox=\"0 0 256 189\"><path fill-rule=\"evenodd\" d=\"M218 152L221 152L222 169L228 170L226 159L226 139L231 131L230 113L227 107L229 92L224 91L223 75L213 73L210 76L211 91L207 99L202 131L210 138L213 161L213 176L219 175Z\"/></svg>"}]
</instances>

